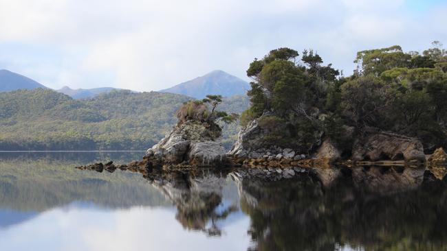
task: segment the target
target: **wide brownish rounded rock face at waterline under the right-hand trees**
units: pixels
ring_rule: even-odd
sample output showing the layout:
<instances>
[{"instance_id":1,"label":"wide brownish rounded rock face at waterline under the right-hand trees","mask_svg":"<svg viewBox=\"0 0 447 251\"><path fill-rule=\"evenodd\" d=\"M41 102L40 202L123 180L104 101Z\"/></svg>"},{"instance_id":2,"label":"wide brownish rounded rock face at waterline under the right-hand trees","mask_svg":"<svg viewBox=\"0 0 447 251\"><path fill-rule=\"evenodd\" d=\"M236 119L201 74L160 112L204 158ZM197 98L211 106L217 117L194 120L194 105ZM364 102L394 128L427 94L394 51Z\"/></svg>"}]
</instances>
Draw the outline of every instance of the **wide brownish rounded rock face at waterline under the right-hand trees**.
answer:
<instances>
[{"instance_id":1,"label":"wide brownish rounded rock face at waterline under the right-hand trees","mask_svg":"<svg viewBox=\"0 0 447 251\"><path fill-rule=\"evenodd\" d=\"M353 147L353 160L405 160L425 162L424 147L415 138L380 132L359 140Z\"/></svg>"}]
</instances>

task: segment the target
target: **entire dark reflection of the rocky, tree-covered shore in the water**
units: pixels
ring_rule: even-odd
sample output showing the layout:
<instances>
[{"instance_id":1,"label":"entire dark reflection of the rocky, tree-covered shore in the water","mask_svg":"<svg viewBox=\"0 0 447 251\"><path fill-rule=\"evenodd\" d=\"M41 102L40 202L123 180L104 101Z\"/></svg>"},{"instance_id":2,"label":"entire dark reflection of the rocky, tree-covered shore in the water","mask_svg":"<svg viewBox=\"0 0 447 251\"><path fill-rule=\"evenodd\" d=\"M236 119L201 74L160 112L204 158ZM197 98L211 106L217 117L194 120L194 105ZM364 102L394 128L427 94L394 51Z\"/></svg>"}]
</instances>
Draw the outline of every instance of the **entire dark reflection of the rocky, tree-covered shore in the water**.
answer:
<instances>
[{"instance_id":1,"label":"entire dark reflection of the rocky, tree-covered shore in the water","mask_svg":"<svg viewBox=\"0 0 447 251\"><path fill-rule=\"evenodd\" d=\"M188 230L220 236L219 222L241 210L249 250L447 250L447 183L423 166L129 170L177 206ZM239 208L223 203L228 177Z\"/></svg>"}]
</instances>

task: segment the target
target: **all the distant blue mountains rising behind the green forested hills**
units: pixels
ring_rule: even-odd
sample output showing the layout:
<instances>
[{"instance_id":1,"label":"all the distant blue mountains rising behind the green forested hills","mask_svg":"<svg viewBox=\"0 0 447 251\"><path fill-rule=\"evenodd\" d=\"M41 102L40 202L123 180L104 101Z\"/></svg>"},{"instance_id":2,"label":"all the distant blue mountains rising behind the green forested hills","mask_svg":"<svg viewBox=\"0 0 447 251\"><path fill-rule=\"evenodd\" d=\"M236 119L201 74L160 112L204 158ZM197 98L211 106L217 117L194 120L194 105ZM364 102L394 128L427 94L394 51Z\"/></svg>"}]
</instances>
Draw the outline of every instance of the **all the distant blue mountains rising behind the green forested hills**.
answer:
<instances>
[{"instance_id":1,"label":"all the distant blue mountains rising behind the green forested hills","mask_svg":"<svg viewBox=\"0 0 447 251\"><path fill-rule=\"evenodd\" d=\"M0 70L0 92L15 91L19 89L47 88L29 77L8 70ZM162 93L174 93L202 99L208 94L222 95L223 97L232 97L235 95L246 95L250 89L250 84L241 80L239 77L230 75L224 71L216 70L196 77L193 80L177 84L171 88L161 90ZM101 93L109 93L113 90L122 90L112 87L101 87L91 89L72 89L68 86L56 90L58 93L69 95L74 99L85 99L96 97ZM134 92L136 93L136 92Z\"/></svg>"}]
</instances>

